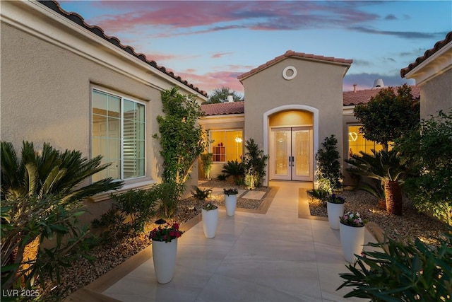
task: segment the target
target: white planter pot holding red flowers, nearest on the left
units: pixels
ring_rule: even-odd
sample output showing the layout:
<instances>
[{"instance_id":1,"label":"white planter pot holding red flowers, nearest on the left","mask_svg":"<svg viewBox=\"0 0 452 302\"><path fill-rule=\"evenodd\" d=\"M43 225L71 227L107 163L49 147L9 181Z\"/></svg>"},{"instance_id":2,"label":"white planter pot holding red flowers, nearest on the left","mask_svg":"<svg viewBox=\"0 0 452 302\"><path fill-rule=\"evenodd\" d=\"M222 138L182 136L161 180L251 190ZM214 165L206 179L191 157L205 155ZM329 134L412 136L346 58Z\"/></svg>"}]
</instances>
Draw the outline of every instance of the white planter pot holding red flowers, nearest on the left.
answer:
<instances>
[{"instance_id":1,"label":"white planter pot holding red flowers, nearest on the left","mask_svg":"<svg viewBox=\"0 0 452 302\"><path fill-rule=\"evenodd\" d=\"M177 238L169 243L153 240L153 262L155 276L160 284L168 283L176 270Z\"/></svg>"}]
</instances>

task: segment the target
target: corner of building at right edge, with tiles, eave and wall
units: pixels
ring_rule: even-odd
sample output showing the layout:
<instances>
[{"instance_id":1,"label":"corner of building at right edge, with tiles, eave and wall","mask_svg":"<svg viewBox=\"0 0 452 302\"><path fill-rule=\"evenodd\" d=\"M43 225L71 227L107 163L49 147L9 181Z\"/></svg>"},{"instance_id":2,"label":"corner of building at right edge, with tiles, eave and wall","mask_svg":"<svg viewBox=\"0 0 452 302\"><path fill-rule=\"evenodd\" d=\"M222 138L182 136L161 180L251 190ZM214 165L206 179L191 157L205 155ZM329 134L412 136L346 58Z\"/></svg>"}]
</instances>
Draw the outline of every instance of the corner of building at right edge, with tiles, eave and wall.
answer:
<instances>
[{"instance_id":1,"label":"corner of building at right edge, with tiles, eave and wall","mask_svg":"<svg viewBox=\"0 0 452 302\"><path fill-rule=\"evenodd\" d=\"M420 87L422 119L436 116L439 110L452 110L452 32L444 40L424 52L407 67L400 70L405 79L415 79Z\"/></svg>"}]
</instances>

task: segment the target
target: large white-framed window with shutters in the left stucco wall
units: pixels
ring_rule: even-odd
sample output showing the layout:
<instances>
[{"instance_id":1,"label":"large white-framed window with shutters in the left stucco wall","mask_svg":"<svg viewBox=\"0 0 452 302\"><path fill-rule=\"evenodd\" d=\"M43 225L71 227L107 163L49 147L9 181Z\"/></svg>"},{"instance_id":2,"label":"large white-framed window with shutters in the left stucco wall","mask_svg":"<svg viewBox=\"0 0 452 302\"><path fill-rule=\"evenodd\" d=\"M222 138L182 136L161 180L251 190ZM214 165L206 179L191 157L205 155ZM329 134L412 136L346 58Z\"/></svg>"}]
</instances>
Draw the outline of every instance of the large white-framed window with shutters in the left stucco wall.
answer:
<instances>
[{"instance_id":1,"label":"large white-framed window with shutters in the left stucco wall","mask_svg":"<svg viewBox=\"0 0 452 302\"><path fill-rule=\"evenodd\" d=\"M93 157L111 163L93 181L145 175L145 105L93 89Z\"/></svg>"}]
</instances>

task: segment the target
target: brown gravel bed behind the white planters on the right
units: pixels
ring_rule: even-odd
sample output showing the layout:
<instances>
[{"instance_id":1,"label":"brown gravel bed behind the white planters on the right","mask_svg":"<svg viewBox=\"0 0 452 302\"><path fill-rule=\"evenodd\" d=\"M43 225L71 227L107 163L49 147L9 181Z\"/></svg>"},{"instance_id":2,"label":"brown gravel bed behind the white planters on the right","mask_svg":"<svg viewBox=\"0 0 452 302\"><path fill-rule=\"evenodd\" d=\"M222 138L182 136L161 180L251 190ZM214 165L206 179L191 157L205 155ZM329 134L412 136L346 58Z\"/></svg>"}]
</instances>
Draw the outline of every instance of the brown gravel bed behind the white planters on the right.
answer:
<instances>
[{"instance_id":1,"label":"brown gravel bed behind the white planters on the right","mask_svg":"<svg viewBox=\"0 0 452 302\"><path fill-rule=\"evenodd\" d=\"M406 197L403 198L403 216L396 216L379 209L376 197L368 192L344 190L338 195L346 198L345 212L359 212L363 219L376 223L386 236L399 237L403 242L420 238L426 243L434 244L435 241L431 238L438 238L441 233L447 231L445 223L419 213ZM318 199L309 200L309 209L311 216L328 217L326 204L322 204Z\"/></svg>"}]
</instances>

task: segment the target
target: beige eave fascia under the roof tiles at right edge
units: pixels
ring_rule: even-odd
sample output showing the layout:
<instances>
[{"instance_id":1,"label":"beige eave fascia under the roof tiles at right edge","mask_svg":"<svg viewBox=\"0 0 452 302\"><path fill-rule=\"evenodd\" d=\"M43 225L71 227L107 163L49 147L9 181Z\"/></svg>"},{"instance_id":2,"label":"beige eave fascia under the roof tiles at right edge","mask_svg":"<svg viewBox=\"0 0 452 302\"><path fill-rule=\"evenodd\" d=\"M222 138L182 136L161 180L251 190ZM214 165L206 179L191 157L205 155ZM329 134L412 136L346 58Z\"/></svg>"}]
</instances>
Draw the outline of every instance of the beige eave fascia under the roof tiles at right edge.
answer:
<instances>
[{"instance_id":1,"label":"beige eave fascia under the roof tiles at right edge","mask_svg":"<svg viewBox=\"0 0 452 302\"><path fill-rule=\"evenodd\" d=\"M405 74L405 79L415 79L417 86L429 81L435 76L452 68L452 42L449 42L440 50L425 59L410 72Z\"/></svg>"}]
</instances>

